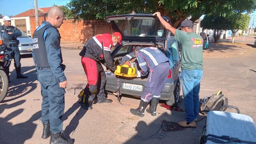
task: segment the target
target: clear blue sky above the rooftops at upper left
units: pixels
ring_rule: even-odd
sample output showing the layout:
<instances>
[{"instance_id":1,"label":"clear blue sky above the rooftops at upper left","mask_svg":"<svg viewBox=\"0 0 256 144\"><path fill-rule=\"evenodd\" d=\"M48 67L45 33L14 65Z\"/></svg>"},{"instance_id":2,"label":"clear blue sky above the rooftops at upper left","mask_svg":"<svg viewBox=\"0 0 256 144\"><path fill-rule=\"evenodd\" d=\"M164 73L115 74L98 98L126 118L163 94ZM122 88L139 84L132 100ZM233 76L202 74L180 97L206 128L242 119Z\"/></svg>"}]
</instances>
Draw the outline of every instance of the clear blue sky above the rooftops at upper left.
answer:
<instances>
[{"instance_id":1,"label":"clear blue sky above the rooftops at upper left","mask_svg":"<svg viewBox=\"0 0 256 144\"><path fill-rule=\"evenodd\" d=\"M38 8L66 5L69 0L37 0ZM30 5L29 5L30 4ZM0 14L3 16L14 16L34 8L34 0L0 0Z\"/></svg>"}]
</instances>

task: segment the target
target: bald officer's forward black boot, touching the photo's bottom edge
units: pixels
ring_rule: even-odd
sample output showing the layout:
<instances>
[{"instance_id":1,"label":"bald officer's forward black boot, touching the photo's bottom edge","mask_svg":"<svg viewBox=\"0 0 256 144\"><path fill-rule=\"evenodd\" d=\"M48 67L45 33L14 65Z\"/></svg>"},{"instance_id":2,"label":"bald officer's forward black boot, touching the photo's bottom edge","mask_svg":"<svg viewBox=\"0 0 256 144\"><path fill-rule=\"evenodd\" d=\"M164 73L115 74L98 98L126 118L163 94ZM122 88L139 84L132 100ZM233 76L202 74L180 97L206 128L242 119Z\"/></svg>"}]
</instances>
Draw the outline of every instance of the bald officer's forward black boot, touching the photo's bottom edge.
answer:
<instances>
[{"instance_id":1,"label":"bald officer's forward black boot, touching the photo's bottom edge","mask_svg":"<svg viewBox=\"0 0 256 144\"><path fill-rule=\"evenodd\" d=\"M50 144L73 144L74 139L66 139L62 137L62 132L51 133Z\"/></svg>"}]
</instances>

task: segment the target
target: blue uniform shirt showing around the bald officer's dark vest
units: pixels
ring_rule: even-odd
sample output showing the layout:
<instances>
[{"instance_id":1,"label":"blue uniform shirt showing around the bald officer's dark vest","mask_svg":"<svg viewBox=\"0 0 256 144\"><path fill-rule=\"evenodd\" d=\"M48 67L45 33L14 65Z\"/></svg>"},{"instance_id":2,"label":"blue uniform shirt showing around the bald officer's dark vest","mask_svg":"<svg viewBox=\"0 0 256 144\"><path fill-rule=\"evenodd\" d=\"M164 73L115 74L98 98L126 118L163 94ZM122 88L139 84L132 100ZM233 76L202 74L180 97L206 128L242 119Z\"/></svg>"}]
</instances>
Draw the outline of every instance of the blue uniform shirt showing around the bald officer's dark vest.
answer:
<instances>
[{"instance_id":1,"label":"blue uniform shirt showing around the bald officer's dark vest","mask_svg":"<svg viewBox=\"0 0 256 144\"><path fill-rule=\"evenodd\" d=\"M36 31L38 31L40 28L43 28L43 26L50 24L47 21L43 21L42 25L39 26ZM51 25L51 24L50 24ZM43 34L43 38L45 41L45 47L46 47L46 53L47 53L47 59L48 63L52 69L52 73L55 75L55 77L59 80L60 83L64 82L66 80L66 77L64 75L64 71L62 70L62 53L61 49L55 48L51 43L53 40L57 39L59 37L59 33L57 30L53 27L47 28ZM36 65L36 59L34 56L34 53L32 51L32 56L34 63Z\"/></svg>"}]
</instances>

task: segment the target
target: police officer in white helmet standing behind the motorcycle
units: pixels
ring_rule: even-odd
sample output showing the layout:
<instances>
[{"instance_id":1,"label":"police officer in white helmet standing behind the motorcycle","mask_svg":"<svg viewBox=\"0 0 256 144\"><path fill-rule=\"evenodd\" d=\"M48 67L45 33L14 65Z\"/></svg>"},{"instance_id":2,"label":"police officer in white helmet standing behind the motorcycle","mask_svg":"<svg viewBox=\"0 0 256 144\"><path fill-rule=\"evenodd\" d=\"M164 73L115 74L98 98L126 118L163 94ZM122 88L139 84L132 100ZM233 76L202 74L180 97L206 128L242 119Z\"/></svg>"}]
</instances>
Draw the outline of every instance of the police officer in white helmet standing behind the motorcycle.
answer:
<instances>
[{"instance_id":1,"label":"police officer in white helmet standing behind the motorcycle","mask_svg":"<svg viewBox=\"0 0 256 144\"><path fill-rule=\"evenodd\" d=\"M0 34L4 43L6 44L5 58L7 63L5 64L5 72L9 79L9 67L11 60L14 58L14 67L17 73L17 79L28 78L21 74L21 54L19 53L19 40L17 36L21 36L21 31L14 26L11 26L11 19L8 16L3 17L4 25L0 26Z\"/></svg>"}]
</instances>

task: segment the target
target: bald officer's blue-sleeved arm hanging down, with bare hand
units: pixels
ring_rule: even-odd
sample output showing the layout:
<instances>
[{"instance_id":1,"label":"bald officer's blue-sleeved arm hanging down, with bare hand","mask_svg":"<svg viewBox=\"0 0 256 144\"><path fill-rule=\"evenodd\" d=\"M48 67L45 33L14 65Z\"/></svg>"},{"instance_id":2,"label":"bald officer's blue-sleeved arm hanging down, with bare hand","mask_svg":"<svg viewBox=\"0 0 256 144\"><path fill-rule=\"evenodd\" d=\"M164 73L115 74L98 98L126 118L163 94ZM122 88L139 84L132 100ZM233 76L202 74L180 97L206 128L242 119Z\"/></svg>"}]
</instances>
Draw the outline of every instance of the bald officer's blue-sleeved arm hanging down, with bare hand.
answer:
<instances>
[{"instance_id":1,"label":"bald officer's blue-sleeved arm hanging down, with bare hand","mask_svg":"<svg viewBox=\"0 0 256 144\"><path fill-rule=\"evenodd\" d=\"M59 34L53 28L46 30L50 31L45 35L45 47L47 53L48 63L52 69L52 73L59 80L59 87L66 88L66 76L62 70L61 61L61 50L60 50L60 40Z\"/></svg>"}]
</instances>

